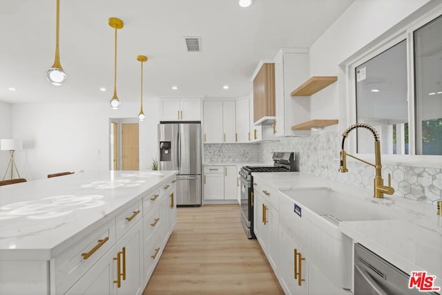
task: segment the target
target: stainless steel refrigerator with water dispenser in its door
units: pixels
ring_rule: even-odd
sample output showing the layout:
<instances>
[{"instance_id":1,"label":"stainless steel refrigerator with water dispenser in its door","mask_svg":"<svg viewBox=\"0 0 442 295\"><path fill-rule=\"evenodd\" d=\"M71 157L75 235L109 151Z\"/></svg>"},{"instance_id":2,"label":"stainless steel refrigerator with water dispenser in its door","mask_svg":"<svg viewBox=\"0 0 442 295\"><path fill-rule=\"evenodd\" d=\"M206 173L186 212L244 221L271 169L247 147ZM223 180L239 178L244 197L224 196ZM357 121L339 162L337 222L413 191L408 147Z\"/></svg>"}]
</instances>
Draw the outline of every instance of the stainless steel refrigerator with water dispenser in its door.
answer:
<instances>
[{"instance_id":1,"label":"stainless steel refrigerator with water dispenser in its door","mask_svg":"<svg viewBox=\"0 0 442 295\"><path fill-rule=\"evenodd\" d=\"M177 205L201 205L201 123L158 124L160 170L178 170Z\"/></svg>"}]
</instances>

